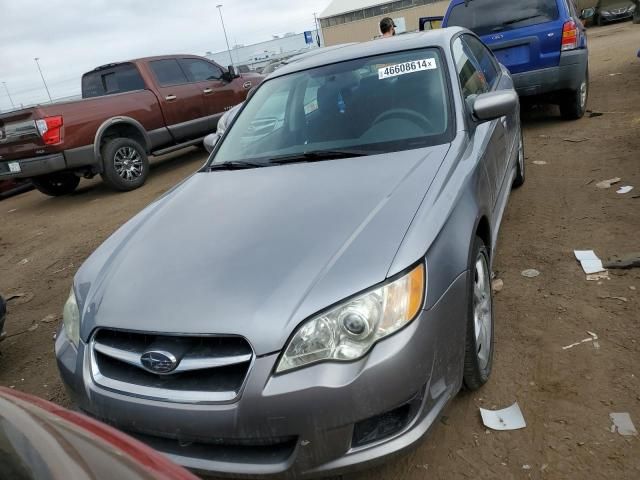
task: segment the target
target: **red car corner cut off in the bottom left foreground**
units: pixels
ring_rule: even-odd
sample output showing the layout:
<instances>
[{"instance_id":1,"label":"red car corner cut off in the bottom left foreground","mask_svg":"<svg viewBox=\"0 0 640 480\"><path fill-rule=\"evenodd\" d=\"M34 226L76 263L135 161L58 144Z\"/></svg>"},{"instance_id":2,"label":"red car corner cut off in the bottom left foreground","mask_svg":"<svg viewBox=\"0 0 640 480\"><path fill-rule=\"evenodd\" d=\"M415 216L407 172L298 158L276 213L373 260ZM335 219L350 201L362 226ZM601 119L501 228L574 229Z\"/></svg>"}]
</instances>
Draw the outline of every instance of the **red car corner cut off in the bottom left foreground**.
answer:
<instances>
[{"instance_id":1,"label":"red car corner cut off in the bottom left foreground","mask_svg":"<svg viewBox=\"0 0 640 480\"><path fill-rule=\"evenodd\" d=\"M111 427L4 387L0 457L0 478L6 480L197 480Z\"/></svg>"}]
</instances>

